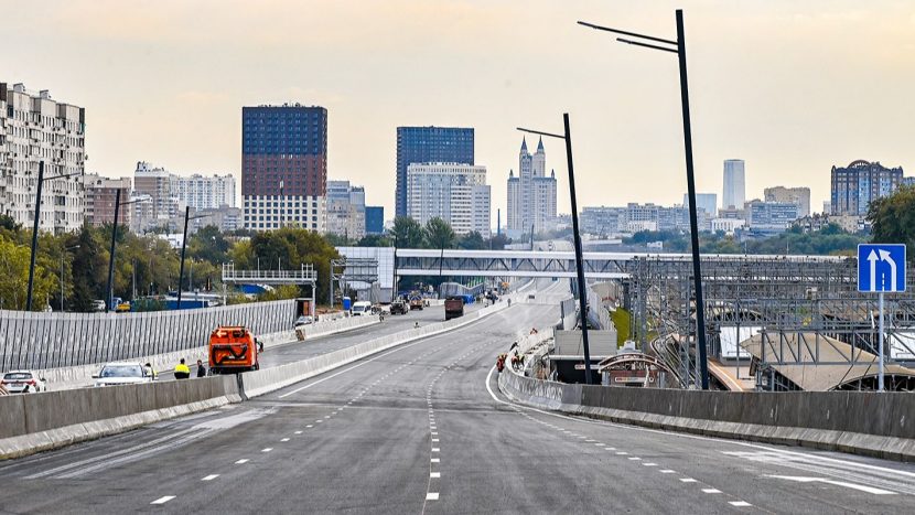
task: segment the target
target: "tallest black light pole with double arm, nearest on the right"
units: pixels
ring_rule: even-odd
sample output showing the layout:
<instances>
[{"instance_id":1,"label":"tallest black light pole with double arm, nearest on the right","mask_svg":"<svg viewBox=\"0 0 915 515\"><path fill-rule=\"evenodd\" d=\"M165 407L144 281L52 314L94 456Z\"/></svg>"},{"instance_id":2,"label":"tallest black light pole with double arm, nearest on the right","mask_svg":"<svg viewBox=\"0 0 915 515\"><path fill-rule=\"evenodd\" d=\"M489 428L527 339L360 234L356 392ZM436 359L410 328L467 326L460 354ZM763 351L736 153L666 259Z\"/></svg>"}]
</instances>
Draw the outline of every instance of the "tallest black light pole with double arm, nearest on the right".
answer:
<instances>
[{"instance_id":1,"label":"tallest black light pole with double arm, nearest on the right","mask_svg":"<svg viewBox=\"0 0 915 515\"><path fill-rule=\"evenodd\" d=\"M686 153L687 168L687 190L689 194L689 228L690 243L692 244L692 277L693 288L696 290L696 336L698 337L697 347L699 351L699 373L702 382L702 389L709 389L709 362L706 350L706 307L702 297L702 267L699 260L699 222L696 214L696 180L693 175L692 165L692 128L690 126L689 115L689 88L687 84L687 63L686 63L686 35L683 33L683 11L677 9L677 41L665 40L663 37L654 37L650 35L638 34L635 32L621 31L611 29L609 26L595 25L580 21L580 25L589 26L600 31L613 32L649 41L634 41L625 37L617 37L616 41L627 43L636 46L644 46L652 50L660 50L664 52L672 52L677 54L680 67L680 103L682 105L683 114L683 148ZM574 213L573 213L574 215Z\"/></svg>"}]
</instances>

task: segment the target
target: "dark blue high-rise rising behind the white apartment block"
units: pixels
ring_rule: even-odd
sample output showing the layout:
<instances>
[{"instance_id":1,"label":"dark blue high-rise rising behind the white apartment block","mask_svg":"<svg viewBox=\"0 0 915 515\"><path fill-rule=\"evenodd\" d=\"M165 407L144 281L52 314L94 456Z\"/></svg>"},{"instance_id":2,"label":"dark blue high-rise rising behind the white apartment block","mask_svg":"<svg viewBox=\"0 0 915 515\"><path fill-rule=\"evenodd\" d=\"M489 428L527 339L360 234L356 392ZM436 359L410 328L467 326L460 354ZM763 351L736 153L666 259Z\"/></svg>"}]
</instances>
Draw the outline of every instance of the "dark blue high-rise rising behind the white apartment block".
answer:
<instances>
[{"instance_id":1,"label":"dark blue high-rise rising behind the white apartment block","mask_svg":"<svg viewBox=\"0 0 915 515\"><path fill-rule=\"evenodd\" d=\"M461 127L398 127L395 215L407 215L407 168L412 163L474 163L474 132Z\"/></svg>"}]
</instances>

